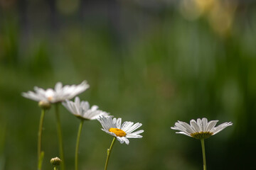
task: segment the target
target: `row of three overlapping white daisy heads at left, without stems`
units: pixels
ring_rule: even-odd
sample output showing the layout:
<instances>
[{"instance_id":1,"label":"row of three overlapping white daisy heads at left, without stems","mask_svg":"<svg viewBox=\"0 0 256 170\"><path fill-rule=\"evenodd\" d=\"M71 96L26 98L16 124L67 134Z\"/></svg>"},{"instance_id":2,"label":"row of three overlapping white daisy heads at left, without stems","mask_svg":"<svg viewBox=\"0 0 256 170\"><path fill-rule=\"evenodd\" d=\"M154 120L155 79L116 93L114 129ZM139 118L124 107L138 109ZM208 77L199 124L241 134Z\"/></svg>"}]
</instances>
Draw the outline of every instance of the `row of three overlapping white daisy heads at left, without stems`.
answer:
<instances>
[{"instance_id":1,"label":"row of three overlapping white daisy heads at left, without stems","mask_svg":"<svg viewBox=\"0 0 256 170\"><path fill-rule=\"evenodd\" d=\"M80 101L77 96L86 89L89 88L89 84L86 81L82 81L78 85L66 85L58 82L55 84L54 89L41 89L37 86L34 87L34 91L28 91L23 93L22 96L29 98L33 101L38 101L44 104L50 103L63 103L63 106L73 113L77 118L83 120L99 120L102 125L102 130L108 134L117 137L117 140L121 143L129 144L127 138L142 138L140 133L144 130L137 130L142 126L142 123L124 122L122 123L121 118L112 118L110 113L100 111L98 106L91 106L87 101ZM76 97L75 97L76 96ZM75 101L70 101L71 98L75 97Z\"/></svg>"}]
</instances>

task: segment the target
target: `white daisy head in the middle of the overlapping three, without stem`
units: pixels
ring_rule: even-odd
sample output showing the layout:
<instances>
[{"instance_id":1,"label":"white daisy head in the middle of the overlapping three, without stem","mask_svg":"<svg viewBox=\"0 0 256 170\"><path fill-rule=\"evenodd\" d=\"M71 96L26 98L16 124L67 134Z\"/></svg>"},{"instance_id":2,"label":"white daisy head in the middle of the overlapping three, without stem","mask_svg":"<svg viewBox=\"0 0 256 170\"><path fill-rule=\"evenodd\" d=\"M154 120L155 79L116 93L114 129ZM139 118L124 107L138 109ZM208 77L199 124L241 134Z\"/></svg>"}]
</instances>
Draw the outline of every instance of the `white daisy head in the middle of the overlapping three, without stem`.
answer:
<instances>
[{"instance_id":1,"label":"white daisy head in the middle of the overlapping three, without stem","mask_svg":"<svg viewBox=\"0 0 256 170\"><path fill-rule=\"evenodd\" d=\"M100 115L109 115L110 113L107 113L105 111L98 110L98 106L92 106L90 108L90 105L87 101L80 101L79 97L75 97L75 101L68 101L66 100L63 102L63 106L70 111L70 113L73 113L78 118L81 118L82 120L95 120L100 117Z\"/></svg>"}]
</instances>

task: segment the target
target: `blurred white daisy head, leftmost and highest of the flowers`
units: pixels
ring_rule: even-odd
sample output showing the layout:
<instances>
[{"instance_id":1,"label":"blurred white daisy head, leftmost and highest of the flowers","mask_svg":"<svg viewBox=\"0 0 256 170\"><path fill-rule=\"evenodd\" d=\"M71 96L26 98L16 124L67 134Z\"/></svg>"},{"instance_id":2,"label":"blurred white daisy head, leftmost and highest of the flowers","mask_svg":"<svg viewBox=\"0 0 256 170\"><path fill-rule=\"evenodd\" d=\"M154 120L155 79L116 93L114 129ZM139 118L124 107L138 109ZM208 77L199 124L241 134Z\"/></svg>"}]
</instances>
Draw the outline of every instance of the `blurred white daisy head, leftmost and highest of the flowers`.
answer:
<instances>
[{"instance_id":1,"label":"blurred white daisy head, leftmost and highest of the flowers","mask_svg":"<svg viewBox=\"0 0 256 170\"><path fill-rule=\"evenodd\" d=\"M81 84L73 84L71 86L63 86L62 83L58 82L57 84L55 84L55 89L44 90L35 86L35 92L28 91L27 93L22 93L22 96L29 98L33 101L48 101L50 103L58 103L61 101L65 101L66 99L71 99L88 88L89 84L87 84L86 81L82 81Z\"/></svg>"}]
</instances>

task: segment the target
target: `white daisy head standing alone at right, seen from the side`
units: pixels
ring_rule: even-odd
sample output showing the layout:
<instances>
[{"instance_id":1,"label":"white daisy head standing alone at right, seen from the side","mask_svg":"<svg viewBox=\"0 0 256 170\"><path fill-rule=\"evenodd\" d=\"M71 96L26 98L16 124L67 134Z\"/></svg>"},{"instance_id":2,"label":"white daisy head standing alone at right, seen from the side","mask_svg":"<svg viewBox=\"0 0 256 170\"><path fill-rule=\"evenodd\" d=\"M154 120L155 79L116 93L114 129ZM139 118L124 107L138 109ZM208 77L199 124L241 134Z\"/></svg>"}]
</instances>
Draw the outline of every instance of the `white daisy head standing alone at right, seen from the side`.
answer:
<instances>
[{"instance_id":1,"label":"white daisy head standing alone at right, seen from the side","mask_svg":"<svg viewBox=\"0 0 256 170\"><path fill-rule=\"evenodd\" d=\"M215 125L218 123L218 120L211 120L208 122L207 118L200 118L196 120L191 120L190 125L185 122L178 121L175 123L174 127L171 127L173 130L180 130L180 133L183 135L187 135L189 137L195 137L196 139L206 139L212 135L217 134L221 130L227 128L230 125L233 125L233 123L223 123L221 125L218 125L215 127Z\"/></svg>"}]
</instances>

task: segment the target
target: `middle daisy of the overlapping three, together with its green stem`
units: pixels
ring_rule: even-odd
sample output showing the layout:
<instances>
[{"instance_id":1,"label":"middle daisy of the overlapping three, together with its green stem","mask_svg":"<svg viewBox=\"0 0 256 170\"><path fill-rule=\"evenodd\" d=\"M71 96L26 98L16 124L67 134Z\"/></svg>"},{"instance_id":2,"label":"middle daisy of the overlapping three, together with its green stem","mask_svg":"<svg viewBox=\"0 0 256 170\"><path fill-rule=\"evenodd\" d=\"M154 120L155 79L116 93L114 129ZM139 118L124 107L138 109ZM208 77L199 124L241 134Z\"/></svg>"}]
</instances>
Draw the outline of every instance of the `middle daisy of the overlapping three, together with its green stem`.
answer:
<instances>
[{"instance_id":1,"label":"middle daisy of the overlapping three, together with its green stem","mask_svg":"<svg viewBox=\"0 0 256 170\"><path fill-rule=\"evenodd\" d=\"M80 143L80 134L82 131L82 124L84 120L95 120L99 118L100 115L109 116L110 113L98 110L99 107L95 105L90 108L89 103L87 101L80 101L79 97L75 97L75 101L66 100L65 102L63 102L63 106L65 106L65 108L67 108L70 113L73 113L73 115L81 120L80 126L78 128L78 137L75 147L75 170L78 170L78 149Z\"/></svg>"}]
</instances>

